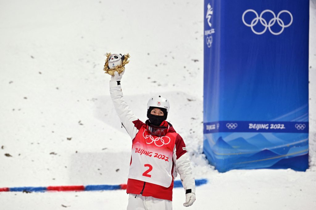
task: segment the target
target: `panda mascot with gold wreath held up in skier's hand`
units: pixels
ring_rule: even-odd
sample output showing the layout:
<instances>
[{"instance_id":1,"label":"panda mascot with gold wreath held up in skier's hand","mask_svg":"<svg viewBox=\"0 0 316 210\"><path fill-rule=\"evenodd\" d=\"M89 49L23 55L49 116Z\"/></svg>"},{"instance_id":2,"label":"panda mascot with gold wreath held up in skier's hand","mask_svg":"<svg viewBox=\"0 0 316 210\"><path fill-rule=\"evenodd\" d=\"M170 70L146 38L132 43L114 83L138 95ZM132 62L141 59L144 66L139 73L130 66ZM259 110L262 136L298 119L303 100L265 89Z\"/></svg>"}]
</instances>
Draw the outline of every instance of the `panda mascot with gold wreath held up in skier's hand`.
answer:
<instances>
[{"instance_id":1,"label":"panda mascot with gold wreath held up in skier's hand","mask_svg":"<svg viewBox=\"0 0 316 210\"><path fill-rule=\"evenodd\" d=\"M128 60L129 57L130 55L128 53L126 55L107 53L103 68L104 73L114 75L114 71L117 71L120 74L125 70L125 65L130 62Z\"/></svg>"}]
</instances>

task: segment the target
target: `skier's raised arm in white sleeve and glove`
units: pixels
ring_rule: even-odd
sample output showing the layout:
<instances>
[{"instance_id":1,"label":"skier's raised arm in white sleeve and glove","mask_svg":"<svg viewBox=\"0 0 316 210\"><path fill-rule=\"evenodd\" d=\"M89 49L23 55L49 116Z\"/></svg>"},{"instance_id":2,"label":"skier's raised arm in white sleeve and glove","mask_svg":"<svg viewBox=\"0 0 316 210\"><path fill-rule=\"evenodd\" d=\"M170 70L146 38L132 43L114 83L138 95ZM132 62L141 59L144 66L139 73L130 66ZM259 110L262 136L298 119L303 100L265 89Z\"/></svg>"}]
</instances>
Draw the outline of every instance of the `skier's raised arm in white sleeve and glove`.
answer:
<instances>
[{"instance_id":1,"label":"skier's raised arm in white sleeve and glove","mask_svg":"<svg viewBox=\"0 0 316 210\"><path fill-rule=\"evenodd\" d=\"M124 71L120 74L117 71L114 72L114 75L111 77L110 81L110 94L119 119L121 120L131 139L134 139L137 133L137 128L135 126L138 124L139 120L130 110L123 98L123 92L120 84L123 74Z\"/></svg>"}]
</instances>

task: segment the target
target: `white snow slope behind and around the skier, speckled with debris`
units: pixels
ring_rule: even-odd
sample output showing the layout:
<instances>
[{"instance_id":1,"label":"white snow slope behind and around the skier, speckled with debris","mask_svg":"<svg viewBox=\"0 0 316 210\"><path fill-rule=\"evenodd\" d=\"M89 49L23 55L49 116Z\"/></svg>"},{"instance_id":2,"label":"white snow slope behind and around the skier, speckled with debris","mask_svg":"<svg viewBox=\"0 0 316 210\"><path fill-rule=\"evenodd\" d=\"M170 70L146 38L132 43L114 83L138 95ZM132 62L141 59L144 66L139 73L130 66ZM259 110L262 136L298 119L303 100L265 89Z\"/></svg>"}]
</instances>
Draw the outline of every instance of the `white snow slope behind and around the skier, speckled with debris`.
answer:
<instances>
[{"instance_id":1,"label":"white snow slope behind and around the skier, speckled with debris","mask_svg":"<svg viewBox=\"0 0 316 210\"><path fill-rule=\"evenodd\" d=\"M0 187L124 184L131 140L103 65L130 53L125 99L146 120L154 94L187 144L198 186L188 208L316 209L316 1L310 1L310 168L218 173L203 147L203 1L0 1ZM10 154L11 156L5 156ZM179 179L179 178L178 178ZM126 209L125 190L0 192L0 209ZM62 206L63 205L63 206Z\"/></svg>"}]
</instances>

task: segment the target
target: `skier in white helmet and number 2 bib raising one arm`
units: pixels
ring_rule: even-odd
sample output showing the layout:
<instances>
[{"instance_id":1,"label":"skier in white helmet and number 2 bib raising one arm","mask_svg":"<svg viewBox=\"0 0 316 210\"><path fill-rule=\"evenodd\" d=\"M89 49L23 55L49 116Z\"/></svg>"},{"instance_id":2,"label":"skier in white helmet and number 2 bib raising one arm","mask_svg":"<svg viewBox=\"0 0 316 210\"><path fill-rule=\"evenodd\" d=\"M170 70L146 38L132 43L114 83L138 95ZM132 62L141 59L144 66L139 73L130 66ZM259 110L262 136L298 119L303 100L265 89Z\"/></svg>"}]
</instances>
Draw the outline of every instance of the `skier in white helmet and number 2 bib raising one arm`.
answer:
<instances>
[{"instance_id":1,"label":"skier in white helmet and number 2 bib raising one arm","mask_svg":"<svg viewBox=\"0 0 316 210\"><path fill-rule=\"evenodd\" d=\"M124 71L114 71L110 94L116 112L132 140L127 189L127 210L172 209L173 180L180 175L185 190L185 207L195 201L195 181L181 136L166 121L169 101L151 97L146 122L140 121L123 98L121 79Z\"/></svg>"}]
</instances>

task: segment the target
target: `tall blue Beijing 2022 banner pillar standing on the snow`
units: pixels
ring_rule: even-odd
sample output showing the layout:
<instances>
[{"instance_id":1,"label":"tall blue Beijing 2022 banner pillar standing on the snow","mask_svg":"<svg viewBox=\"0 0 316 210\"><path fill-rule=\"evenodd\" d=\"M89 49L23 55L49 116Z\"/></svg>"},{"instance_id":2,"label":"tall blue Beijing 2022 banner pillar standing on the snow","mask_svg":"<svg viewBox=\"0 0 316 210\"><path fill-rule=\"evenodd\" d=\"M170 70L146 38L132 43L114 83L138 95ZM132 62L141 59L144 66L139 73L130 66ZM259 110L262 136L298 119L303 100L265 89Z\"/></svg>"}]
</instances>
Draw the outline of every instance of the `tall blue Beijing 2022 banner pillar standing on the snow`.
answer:
<instances>
[{"instance_id":1,"label":"tall blue Beijing 2022 banner pillar standing on the snow","mask_svg":"<svg viewBox=\"0 0 316 210\"><path fill-rule=\"evenodd\" d=\"M204 153L220 172L308 168L309 0L205 0Z\"/></svg>"}]
</instances>

